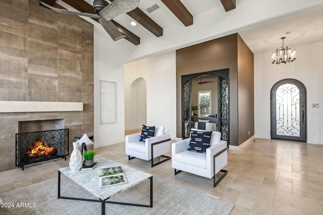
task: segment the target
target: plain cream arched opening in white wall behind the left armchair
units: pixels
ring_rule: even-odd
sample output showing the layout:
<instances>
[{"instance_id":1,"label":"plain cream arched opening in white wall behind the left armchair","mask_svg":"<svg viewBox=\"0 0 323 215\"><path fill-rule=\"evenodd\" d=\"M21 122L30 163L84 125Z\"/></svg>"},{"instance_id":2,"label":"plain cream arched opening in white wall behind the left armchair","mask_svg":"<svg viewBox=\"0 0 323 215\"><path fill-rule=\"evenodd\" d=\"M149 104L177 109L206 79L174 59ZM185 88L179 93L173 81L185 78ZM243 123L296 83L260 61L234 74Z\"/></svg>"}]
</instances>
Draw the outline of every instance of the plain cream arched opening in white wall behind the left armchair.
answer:
<instances>
[{"instance_id":1,"label":"plain cream arched opening in white wall behind the left armchair","mask_svg":"<svg viewBox=\"0 0 323 215\"><path fill-rule=\"evenodd\" d=\"M125 128L126 130L139 129L146 122L146 82L143 78L138 78L131 83L129 96L125 101Z\"/></svg>"}]
</instances>

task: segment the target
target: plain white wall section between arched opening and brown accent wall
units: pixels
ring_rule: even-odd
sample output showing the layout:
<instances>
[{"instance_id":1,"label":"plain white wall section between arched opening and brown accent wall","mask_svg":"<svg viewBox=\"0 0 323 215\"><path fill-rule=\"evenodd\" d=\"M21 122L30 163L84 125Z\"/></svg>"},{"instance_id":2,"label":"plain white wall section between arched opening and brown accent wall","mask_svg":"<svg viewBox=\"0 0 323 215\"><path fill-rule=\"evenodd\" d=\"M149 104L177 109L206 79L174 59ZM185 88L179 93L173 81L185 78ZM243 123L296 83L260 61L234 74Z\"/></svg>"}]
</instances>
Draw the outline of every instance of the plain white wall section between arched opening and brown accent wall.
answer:
<instances>
[{"instance_id":1,"label":"plain white wall section between arched opening and brown accent wall","mask_svg":"<svg viewBox=\"0 0 323 215\"><path fill-rule=\"evenodd\" d=\"M147 59L147 124L176 139L176 51Z\"/></svg>"}]
</instances>

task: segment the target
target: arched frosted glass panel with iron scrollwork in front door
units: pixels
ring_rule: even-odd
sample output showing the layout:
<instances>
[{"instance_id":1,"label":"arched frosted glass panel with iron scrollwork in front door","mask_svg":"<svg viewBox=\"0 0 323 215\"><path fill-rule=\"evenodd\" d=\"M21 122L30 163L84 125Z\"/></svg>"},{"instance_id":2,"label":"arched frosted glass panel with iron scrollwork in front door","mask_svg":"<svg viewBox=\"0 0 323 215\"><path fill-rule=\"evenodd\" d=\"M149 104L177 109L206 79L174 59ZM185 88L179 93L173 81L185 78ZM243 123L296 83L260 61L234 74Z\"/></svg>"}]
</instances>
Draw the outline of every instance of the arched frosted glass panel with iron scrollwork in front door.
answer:
<instances>
[{"instance_id":1,"label":"arched frosted glass panel with iron scrollwork in front door","mask_svg":"<svg viewBox=\"0 0 323 215\"><path fill-rule=\"evenodd\" d=\"M300 136L300 96L293 84L283 84L276 91L276 135Z\"/></svg>"}]
</instances>

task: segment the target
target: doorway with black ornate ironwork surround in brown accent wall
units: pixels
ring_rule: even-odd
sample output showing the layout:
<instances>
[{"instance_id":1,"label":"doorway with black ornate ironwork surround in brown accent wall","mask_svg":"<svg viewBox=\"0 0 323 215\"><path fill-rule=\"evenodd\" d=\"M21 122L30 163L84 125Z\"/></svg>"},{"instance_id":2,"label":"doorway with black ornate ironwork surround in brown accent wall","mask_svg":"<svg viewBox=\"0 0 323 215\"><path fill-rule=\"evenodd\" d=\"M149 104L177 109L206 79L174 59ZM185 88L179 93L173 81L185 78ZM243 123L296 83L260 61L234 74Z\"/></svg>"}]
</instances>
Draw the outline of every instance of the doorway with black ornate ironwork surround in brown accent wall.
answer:
<instances>
[{"instance_id":1,"label":"doorway with black ornate ironwork surround in brown accent wall","mask_svg":"<svg viewBox=\"0 0 323 215\"><path fill-rule=\"evenodd\" d=\"M197 84L197 85L196 85ZM205 85L204 85L205 84ZM229 146L229 69L209 71L199 74L191 74L182 76L182 138L188 138L194 121L199 119L200 112L194 112L194 107L198 104L194 103L194 97L198 101L198 90L194 91L193 86L205 86L199 88L201 91L210 91L210 86L216 89L211 93L214 96L210 112L206 112L208 117L203 117L209 122L216 123L218 131L221 132L221 138L227 141ZM198 106L199 107L199 106ZM199 110L200 111L200 110ZM210 114L210 115L208 115ZM214 118L214 119L211 119Z\"/></svg>"}]
</instances>

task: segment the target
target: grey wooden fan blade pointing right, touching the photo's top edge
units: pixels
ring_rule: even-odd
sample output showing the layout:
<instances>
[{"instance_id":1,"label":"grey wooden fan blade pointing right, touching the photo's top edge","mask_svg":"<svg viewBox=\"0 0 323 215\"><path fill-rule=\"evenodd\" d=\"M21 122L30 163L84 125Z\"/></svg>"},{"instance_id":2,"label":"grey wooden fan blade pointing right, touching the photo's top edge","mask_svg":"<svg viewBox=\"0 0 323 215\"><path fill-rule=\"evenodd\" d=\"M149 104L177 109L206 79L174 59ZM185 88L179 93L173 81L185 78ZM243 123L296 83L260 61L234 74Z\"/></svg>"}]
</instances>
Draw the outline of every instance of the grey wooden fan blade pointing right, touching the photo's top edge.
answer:
<instances>
[{"instance_id":1,"label":"grey wooden fan blade pointing right, touching the photo's top edge","mask_svg":"<svg viewBox=\"0 0 323 215\"><path fill-rule=\"evenodd\" d=\"M105 20L112 20L123 13L136 9L138 5L139 0L115 0L103 8L99 15Z\"/></svg>"}]
</instances>

